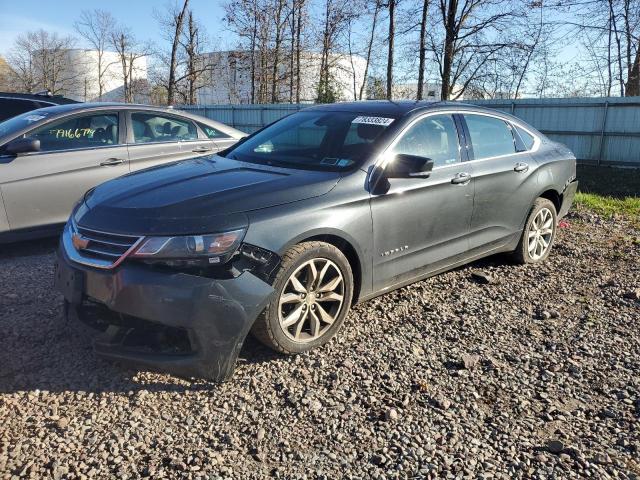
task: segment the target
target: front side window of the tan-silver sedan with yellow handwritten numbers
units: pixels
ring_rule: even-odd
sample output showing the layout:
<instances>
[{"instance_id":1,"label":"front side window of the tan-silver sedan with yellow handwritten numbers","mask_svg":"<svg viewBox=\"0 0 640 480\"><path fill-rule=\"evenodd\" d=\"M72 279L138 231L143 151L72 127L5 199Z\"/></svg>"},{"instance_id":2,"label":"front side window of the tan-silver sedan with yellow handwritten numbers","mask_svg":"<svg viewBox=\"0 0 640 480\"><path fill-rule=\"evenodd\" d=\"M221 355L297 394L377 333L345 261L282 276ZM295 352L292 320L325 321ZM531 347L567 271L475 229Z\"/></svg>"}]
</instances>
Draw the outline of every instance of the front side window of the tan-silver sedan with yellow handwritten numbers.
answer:
<instances>
[{"instance_id":1,"label":"front side window of the tan-silver sedan with yellow handwritten numbers","mask_svg":"<svg viewBox=\"0 0 640 480\"><path fill-rule=\"evenodd\" d=\"M40 140L40 151L96 148L118 143L118 114L67 118L37 128L28 137Z\"/></svg>"}]
</instances>

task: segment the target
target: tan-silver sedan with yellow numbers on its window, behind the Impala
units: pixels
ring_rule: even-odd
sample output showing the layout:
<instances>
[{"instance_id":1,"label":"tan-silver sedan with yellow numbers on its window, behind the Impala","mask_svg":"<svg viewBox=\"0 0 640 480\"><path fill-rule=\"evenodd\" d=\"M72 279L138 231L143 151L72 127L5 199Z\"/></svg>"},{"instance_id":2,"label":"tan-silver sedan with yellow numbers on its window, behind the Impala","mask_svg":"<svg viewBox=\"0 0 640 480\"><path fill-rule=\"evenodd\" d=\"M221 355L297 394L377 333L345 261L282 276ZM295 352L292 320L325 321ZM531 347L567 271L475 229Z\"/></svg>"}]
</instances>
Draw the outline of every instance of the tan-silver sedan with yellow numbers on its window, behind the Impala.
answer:
<instances>
[{"instance_id":1,"label":"tan-silver sedan with yellow numbers on its window, behind the Impala","mask_svg":"<svg viewBox=\"0 0 640 480\"><path fill-rule=\"evenodd\" d=\"M225 149L244 133L144 105L76 103L0 123L0 242L60 231L91 187Z\"/></svg>"}]
</instances>

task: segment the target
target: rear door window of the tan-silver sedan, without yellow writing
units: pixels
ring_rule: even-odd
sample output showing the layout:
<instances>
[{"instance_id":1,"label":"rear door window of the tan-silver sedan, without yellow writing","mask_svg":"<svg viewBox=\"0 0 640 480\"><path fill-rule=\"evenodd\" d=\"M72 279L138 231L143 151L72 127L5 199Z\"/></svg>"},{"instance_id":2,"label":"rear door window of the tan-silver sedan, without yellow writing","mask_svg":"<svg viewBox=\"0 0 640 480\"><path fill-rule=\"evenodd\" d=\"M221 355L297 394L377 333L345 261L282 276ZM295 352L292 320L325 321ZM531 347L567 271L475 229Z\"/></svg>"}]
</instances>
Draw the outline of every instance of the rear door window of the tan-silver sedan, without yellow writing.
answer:
<instances>
[{"instance_id":1,"label":"rear door window of the tan-silver sedan, without yellow writing","mask_svg":"<svg viewBox=\"0 0 640 480\"><path fill-rule=\"evenodd\" d=\"M135 143L180 142L198 138L195 124L181 118L155 113L132 113L131 124Z\"/></svg>"}]
</instances>

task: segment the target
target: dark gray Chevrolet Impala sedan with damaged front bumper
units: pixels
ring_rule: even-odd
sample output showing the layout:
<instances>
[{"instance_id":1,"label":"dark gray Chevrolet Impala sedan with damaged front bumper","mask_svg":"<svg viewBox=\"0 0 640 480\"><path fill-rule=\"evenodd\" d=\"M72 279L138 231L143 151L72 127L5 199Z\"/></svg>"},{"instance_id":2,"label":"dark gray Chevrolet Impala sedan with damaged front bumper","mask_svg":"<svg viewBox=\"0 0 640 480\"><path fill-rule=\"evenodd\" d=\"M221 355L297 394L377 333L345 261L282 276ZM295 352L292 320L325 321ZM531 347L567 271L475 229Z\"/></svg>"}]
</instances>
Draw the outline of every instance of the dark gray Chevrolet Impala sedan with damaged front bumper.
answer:
<instances>
[{"instance_id":1,"label":"dark gray Chevrolet Impala sedan with damaged front bumper","mask_svg":"<svg viewBox=\"0 0 640 480\"><path fill-rule=\"evenodd\" d=\"M567 148L504 113L314 106L88 192L56 282L67 313L105 331L100 354L222 380L249 331L299 353L355 302L498 252L542 262L575 171Z\"/></svg>"}]
</instances>

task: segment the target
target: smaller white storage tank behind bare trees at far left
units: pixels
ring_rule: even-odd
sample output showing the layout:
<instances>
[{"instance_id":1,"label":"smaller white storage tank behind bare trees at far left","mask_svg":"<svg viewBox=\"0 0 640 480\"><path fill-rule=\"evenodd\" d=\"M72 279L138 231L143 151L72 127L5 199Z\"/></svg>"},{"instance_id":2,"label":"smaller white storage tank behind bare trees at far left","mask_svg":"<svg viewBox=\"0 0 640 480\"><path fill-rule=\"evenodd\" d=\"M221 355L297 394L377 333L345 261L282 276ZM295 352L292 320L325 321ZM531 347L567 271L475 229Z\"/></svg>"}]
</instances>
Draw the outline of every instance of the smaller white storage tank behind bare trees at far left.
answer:
<instances>
[{"instance_id":1,"label":"smaller white storage tank behind bare trees at far left","mask_svg":"<svg viewBox=\"0 0 640 480\"><path fill-rule=\"evenodd\" d=\"M70 49L65 52L64 69L61 78L66 97L82 102L122 101L124 74L122 63L116 52L102 54L103 92L100 97L98 83L98 51ZM132 80L147 79L147 58L139 57L133 62Z\"/></svg>"}]
</instances>

